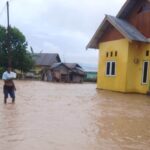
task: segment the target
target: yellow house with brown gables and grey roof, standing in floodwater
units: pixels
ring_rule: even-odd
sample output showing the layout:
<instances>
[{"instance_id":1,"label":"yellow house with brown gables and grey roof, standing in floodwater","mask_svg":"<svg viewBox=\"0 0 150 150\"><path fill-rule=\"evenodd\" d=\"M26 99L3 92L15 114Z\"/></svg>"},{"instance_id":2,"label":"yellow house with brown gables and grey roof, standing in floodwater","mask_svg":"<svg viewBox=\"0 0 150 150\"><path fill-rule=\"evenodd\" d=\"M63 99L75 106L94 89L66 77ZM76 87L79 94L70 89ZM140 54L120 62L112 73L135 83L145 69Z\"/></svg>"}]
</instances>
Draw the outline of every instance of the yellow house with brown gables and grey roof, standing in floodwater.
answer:
<instances>
[{"instance_id":1,"label":"yellow house with brown gables and grey roof, standing in floodwater","mask_svg":"<svg viewBox=\"0 0 150 150\"><path fill-rule=\"evenodd\" d=\"M150 89L150 0L127 0L106 15L87 48L99 49L97 88L147 93Z\"/></svg>"}]
</instances>

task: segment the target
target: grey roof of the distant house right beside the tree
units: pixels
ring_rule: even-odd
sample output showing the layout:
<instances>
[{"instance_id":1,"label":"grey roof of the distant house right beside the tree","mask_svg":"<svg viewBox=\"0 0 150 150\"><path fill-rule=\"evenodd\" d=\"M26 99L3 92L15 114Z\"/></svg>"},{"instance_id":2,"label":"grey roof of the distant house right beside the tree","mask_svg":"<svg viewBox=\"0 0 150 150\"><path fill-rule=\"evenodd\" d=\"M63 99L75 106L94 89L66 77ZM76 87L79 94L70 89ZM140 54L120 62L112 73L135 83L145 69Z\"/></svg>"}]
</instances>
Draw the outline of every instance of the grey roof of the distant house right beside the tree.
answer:
<instances>
[{"instance_id":1,"label":"grey roof of the distant house right beside the tree","mask_svg":"<svg viewBox=\"0 0 150 150\"><path fill-rule=\"evenodd\" d=\"M39 53L33 56L37 66L52 66L54 63L61 62L58 54L55 53Z\"/></svg>"}]
</instances>

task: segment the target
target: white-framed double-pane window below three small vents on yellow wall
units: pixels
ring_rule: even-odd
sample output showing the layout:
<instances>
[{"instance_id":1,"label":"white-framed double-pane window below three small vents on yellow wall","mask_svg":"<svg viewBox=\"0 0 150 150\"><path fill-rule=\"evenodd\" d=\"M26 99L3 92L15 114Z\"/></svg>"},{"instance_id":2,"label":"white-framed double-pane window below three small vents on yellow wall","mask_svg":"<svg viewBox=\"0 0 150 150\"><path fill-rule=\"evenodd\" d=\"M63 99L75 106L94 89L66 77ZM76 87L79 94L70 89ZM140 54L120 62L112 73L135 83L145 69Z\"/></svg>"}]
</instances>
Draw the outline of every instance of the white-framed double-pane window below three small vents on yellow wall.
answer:
<instances>
[{"instance_id":1,"label":"white-framed double-pane window below three small vents on yellow wall","mask_svg":"<svg viewBox=\"0 0 150 150\"><path fill-rule=\"evenodd\" d=\"M109 61L106 63L106 75L115 76L116 75L116 62Z\"/></svg>"}]
</instances>

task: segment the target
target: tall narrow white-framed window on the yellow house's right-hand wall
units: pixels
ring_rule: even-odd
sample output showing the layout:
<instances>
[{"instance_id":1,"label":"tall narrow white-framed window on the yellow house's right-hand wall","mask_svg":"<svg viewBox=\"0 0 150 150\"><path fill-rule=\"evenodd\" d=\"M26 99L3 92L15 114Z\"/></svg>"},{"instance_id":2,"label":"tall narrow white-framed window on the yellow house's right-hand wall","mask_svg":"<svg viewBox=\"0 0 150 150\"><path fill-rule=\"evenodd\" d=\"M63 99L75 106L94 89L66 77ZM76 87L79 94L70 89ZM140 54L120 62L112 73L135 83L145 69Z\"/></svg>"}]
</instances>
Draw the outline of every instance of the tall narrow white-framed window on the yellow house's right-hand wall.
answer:
<instances>
[{"instance_id":1,"label":"tall narrow white-framed window on the yellow house's right-hand wall","mask_svg":"<svg viewBox=\"0 0 150 150\"><path fill-rule=\"evenodd\" d=\"M147 84L147 82L148 82L148 66L149 66L149 62L145 61L143 63L143 75L142 75L142 83L143 84Z\"/></svg>"}]
</instances>

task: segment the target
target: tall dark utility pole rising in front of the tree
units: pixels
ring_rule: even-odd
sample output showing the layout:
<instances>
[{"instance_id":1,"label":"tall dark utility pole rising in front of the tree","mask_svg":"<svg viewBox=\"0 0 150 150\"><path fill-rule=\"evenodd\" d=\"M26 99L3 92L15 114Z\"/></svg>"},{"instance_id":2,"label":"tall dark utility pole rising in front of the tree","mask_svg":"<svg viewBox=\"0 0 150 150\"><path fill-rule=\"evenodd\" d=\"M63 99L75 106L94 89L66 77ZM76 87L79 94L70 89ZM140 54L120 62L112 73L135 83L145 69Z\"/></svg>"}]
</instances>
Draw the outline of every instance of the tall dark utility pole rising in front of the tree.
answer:
<instances>
[{"instance_id":1,"label":"tall dark utility pole rising in front of the tree","mask_svg":"<svg viewBox=\"0 0 150 150\"><path fill-rule=\"evenodd\" d=\"M9 24L9 2L7 5L7 50L8 50L8 66L12 66L11 44L10 44L10 24Z\"/></svg>"}]
</instances>

